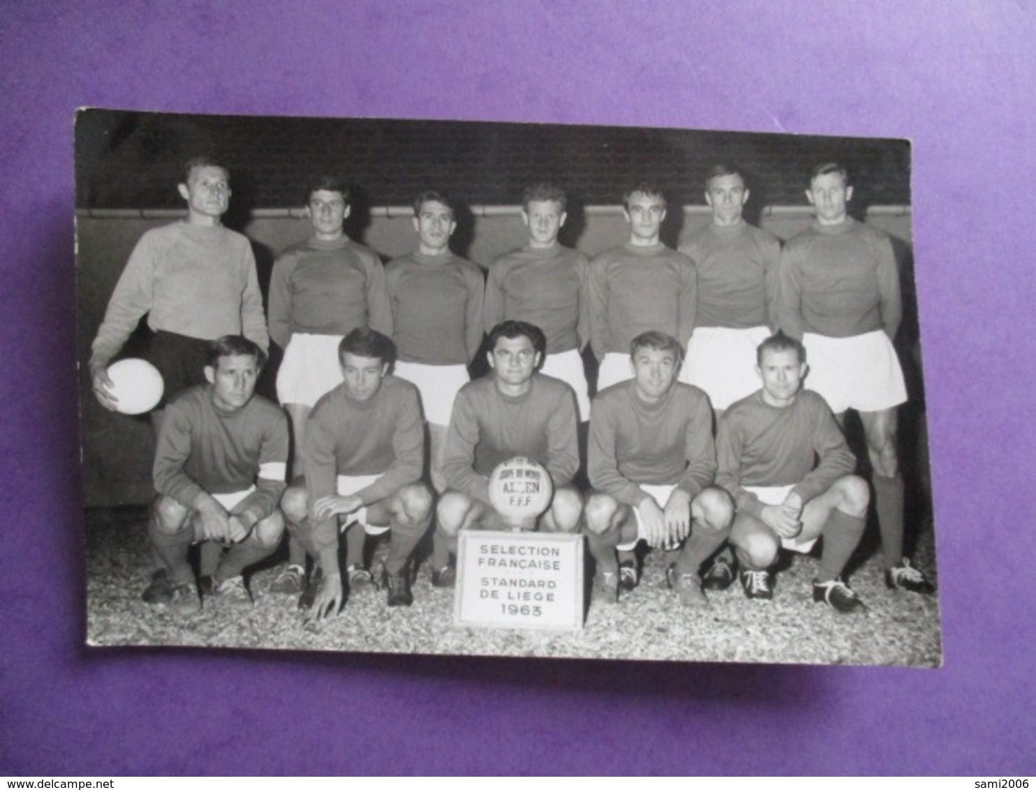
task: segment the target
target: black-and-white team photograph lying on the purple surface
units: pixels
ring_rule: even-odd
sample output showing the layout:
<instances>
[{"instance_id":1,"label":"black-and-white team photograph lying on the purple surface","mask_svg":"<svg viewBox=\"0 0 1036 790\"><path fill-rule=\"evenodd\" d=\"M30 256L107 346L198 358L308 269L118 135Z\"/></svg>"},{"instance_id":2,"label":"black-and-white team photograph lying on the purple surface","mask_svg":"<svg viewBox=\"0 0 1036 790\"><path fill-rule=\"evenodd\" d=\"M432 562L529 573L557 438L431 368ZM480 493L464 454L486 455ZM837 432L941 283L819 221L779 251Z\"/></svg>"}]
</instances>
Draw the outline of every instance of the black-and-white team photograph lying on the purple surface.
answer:
<instances>
[{"instance_id":1,"label":"black-and-white team photograph lying on the purple surface","mask_svg":"<svg viewBox=\"0 0 1036 790\"><path fill-rule=\"evenodd\" d=\"M76 183L89 645L941 666L909 141L83 110Z\"/></svg>"}]
</instances>

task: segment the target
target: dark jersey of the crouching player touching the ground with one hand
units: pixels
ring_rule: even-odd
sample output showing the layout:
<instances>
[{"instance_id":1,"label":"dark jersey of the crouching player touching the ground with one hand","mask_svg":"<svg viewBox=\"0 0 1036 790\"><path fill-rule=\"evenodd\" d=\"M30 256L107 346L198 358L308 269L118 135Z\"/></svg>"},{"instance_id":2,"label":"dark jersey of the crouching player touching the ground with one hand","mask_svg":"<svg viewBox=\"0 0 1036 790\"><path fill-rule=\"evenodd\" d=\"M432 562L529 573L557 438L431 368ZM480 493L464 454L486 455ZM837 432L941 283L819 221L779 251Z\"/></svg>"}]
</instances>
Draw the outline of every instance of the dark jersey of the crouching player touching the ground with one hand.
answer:
<instances>
[{"instance_id":1,"label":"dark jersey of the crouching player touching the ground with one hand","mask_svg":"<svg viewBox=\"0 0 1036 790\"><path fill-rule=\"evenodd\" d=\"M385 376L367 401L349 398L345 384L323 396L306 423L306 488L310 503L338 491L339 475L378 475L356 493L364 505L421 479L425 429L418 388ZM313 540L321 565L336 567L337 519L314 524Z\"/></svg>"}]
</instances>

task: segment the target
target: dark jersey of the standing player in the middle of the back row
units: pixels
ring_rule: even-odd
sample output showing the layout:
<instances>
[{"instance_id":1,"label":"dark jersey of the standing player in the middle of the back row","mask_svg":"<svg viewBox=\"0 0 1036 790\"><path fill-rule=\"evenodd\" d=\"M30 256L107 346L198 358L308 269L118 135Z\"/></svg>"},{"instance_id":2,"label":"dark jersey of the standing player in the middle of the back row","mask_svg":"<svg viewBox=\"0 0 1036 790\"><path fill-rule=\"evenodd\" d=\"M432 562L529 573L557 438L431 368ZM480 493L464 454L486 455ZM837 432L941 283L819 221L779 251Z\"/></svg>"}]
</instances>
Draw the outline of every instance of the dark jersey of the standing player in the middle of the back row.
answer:
<instances>
[{"instance_id":1,"label":"dark jersey of the standing player in the middle of the back row","mask_svg":"<svg viewBox=\"0 0 1036 790\"><path fill-rule=\"evenodd\" d=\"M486 332L500 321L525 321L543 329L548 354L581 348L589 340L588 265L585 255L556 243L500 256L486 280Z\"/></svg>"}]
</instances>

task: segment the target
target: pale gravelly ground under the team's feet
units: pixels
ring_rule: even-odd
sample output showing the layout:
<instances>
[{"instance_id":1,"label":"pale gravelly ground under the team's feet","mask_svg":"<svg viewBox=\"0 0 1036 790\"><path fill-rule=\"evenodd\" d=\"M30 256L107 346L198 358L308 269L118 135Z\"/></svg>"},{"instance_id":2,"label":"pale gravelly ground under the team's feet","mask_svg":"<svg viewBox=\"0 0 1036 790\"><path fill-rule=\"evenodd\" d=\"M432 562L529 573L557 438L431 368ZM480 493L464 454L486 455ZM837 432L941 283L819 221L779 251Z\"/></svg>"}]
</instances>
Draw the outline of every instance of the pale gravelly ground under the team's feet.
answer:
<instances>
[{"instance_id":1,"label":"pale gravelly ground under the team's feet","mask_svg":"<svg viewBox=\"0 0 1036 790\"><path fill-rule=\"evenodd\" d=\"M873 527L848 577L868 607L865 614L841 615L812 603L813 556L782 560L771 602L749 601L736 584L711 593L707 611L687 611L665 586L660 553L652 552L635 591L616 606L591 607L582 631L558 634L454 626L453 591L431 586L427 562L420 567L410 608L388 609L383 591L357 595L337 617L307 628L295 597L270 592L280 569L271 563L252 576L256 603L251 611L241 614L215 602L197 615L177 617L140 598L149 577L145 518L141 508L86 514L90 645L914 667L942 663L937 596L886 589ZM918 532L917 564L938 584L930 521ZM382 554L379 546L373 566L380 567Z\"/></svg>"}]
</instances>

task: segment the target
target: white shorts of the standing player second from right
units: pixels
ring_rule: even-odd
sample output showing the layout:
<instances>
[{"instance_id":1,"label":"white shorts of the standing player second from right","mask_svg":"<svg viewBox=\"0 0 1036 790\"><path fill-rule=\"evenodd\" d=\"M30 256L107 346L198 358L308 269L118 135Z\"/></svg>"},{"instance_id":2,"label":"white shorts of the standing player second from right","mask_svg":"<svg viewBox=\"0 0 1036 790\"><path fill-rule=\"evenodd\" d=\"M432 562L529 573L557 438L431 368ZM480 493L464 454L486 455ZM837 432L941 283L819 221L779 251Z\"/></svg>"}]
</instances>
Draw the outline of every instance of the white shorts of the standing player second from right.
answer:
<instances>
[{"instance_id":1,"label":"white shorts of the standing player second from right","mask_svg":"<svg viewBox=\"0 0 1036 790\"><path fill-rule=\"evenodd\" d=\"M767 326L699 326L687 344L680 380L706 390L714 409L726 409L759 388L755 352L769 337Z\"/></svg>"}]
</instances>

